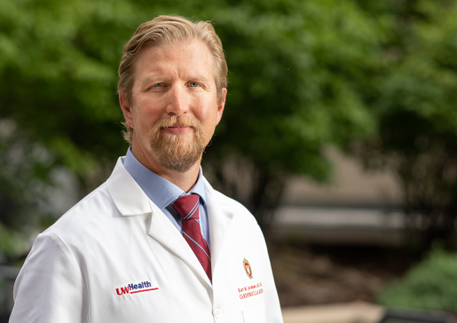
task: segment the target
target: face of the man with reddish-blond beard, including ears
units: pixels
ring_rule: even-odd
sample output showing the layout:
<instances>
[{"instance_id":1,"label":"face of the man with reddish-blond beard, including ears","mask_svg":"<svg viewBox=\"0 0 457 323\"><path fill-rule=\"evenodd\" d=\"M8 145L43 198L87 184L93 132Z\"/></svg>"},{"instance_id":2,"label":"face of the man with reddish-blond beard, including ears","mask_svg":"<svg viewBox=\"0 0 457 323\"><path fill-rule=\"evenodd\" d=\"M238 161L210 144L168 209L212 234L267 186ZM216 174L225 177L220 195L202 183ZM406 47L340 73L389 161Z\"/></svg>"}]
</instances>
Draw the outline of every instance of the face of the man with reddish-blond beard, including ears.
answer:
<instances>
[{"instance_id":1,"label":"face of the man with reddish-blond beard, including ears","mask_svg":"<svg viewBox=\"0 0 457 323\"><path fill-rule=\"evenodd\" d=\"M222 117L214 58L201 41L148 46L136 62L132 105L122 110L133 146L163 168L185 172L200 162ZM125 101L125 100L124 100Z\"/></svg>"}]
</instances>

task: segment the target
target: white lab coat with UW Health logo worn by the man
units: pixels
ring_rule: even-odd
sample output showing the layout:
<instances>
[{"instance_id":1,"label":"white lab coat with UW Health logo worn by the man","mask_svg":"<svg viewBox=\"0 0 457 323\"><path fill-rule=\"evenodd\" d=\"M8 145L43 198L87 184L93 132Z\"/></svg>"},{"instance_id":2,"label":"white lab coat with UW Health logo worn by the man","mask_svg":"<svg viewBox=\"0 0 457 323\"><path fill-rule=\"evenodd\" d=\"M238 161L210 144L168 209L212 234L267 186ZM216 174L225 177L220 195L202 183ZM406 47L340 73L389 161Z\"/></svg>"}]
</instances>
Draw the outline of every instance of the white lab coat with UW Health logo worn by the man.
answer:
<instances>
[{"instance_id":1,"label":"white lab coat with UW Health logo worn by the man","mask_svg":"<svg viewBox=\"0 0 457 323\"><path fill-rule=\"evenodd\" d=\"M10 322L282 322L255 218L208 182L205 190L212 284L120 158L106 183L38 235Z\"/></svg>"}]
</instances>

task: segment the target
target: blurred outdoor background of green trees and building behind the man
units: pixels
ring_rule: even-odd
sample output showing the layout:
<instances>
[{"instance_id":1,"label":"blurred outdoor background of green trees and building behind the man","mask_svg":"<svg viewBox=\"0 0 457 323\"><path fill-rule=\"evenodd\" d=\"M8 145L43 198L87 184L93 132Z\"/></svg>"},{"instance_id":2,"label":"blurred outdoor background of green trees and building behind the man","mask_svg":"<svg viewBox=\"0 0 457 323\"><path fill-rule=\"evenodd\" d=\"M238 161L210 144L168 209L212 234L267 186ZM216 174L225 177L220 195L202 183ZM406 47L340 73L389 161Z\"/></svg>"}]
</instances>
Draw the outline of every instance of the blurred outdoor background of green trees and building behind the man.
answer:
<instances>
[{"instance_id":1,"label":"blurred outdoor background of green trees and building behind the man","mask_svg":"<svg viewBox=\"0 0 457 323\"><path fill-rule=\"evenodd\" d=\"M125 154L117 67L159 14L222 39L203 170L256 216L281 305L457 312L455 0L0 0L0 311L36 234Z\"/></svg>"}]
</instances>

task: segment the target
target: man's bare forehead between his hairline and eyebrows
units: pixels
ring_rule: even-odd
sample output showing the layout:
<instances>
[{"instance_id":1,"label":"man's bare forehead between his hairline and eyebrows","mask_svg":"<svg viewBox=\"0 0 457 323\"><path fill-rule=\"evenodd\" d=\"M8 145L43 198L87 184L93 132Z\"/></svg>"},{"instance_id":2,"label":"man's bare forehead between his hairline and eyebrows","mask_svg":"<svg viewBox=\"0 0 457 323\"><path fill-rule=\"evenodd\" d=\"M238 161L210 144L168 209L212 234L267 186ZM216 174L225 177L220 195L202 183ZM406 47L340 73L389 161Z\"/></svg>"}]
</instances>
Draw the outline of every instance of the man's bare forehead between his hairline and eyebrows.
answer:
<instances>
[{"instance_id":1,"label":"man's bare forehead between his hairline and eyebrows","mask_svg":"<svg viewBox=\"0 0 457 323\"><path fill-rule=\"evenodd\" d=\"M135 79L200 76L214 81L213 67L213 55L199 40L149 44L138 54Z\"/></svg>"}]
</instances>

